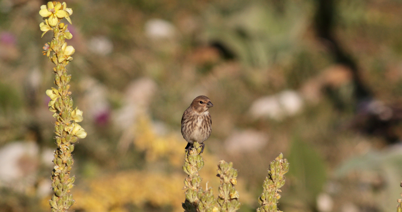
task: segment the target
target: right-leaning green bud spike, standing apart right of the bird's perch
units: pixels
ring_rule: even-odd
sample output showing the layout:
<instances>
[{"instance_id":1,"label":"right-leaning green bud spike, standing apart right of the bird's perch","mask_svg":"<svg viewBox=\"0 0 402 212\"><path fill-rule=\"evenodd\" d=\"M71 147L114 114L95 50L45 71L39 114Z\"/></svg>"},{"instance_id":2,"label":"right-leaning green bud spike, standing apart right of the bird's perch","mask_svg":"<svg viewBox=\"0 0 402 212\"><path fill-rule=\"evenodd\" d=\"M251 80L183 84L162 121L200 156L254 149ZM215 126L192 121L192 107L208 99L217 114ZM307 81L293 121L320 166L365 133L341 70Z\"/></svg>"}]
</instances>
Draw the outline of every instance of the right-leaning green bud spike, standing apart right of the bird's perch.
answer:
<instances>
[{"instance_id":1,"label":"right-leaning green bud spike, standing apart right of the bird's perch","mask_svg":"<svg viewBox=\"0 0 402 212\"><path fill-rule=\"evenodd\" d=\"M268 177L263 184L263 193L258 198L261 207L257 212L280 212L277 208L278 200L281 198L280 188L285 184L284 174L289 171L287 159L283 159L280 153L274 161L271 162L268 170Z\"/></svg>"}]
</instances>

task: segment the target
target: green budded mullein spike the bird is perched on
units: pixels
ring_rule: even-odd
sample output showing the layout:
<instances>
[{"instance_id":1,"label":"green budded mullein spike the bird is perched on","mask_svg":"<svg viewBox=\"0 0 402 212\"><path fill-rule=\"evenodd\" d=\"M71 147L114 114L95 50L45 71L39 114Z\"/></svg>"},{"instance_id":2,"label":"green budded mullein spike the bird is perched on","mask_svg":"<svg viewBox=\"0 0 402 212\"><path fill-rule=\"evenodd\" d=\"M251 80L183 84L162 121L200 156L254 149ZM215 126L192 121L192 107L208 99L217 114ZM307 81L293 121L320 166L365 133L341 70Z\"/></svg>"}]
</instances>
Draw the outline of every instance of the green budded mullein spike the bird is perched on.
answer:
<instances>
[{"instance_id":1,"label":"green budded mullein spike the bird is perched on","mask_svg":"<svg viewBox=\"0 0 402 212\"><path fill-rule=\"evenodd\" d=\"M184 210L186 212L196 212L196 211L204 211L199 210L198 205L201 197L204 198L204 191L201 188L201 177L199 176L199 170L204 167L204 159L200 154L202 150L202 146L194 142L193 148L186 150L185 153L185 164L183 165L183 171L187 174L187 177L184 180L184 187L186 189L185 192L186 200L182 204ZM212 189L211 189L212 191ZM209 192L207 192L209 194ZM205 201L200 204L202 209L205 209L204 203L206 203L207 197L205 197ZM209 199L208 199L209 201ZM197 210L198 209L198 210Z\"/></svg>"}]
</instances>

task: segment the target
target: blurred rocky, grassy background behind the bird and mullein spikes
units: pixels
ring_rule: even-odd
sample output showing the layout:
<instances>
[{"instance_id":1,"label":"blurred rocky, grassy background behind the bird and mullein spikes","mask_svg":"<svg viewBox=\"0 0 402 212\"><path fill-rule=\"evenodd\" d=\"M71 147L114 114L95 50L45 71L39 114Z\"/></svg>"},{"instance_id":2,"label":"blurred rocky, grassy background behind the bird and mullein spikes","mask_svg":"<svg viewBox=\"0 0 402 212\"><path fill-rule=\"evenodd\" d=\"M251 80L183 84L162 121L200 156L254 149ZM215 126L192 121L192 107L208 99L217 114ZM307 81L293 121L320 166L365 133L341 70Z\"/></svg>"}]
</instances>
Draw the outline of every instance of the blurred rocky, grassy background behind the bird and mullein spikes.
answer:
<instances>
[{"instance_id":1,"label":"blurred rocky, grassy background behind the bird and mullein spikes","mask_svg":"<svg viewBox=\"0 0 402 212\"><path fill-rule=\"evenodd\" d=\"M219 160L254 211L269 162L290 171L286 212L394 211L402 191L400 0L66 2L76 143L76 212L182 211L180 118L207 95ZM0 210L49 211L53 122L39 7L0 0ZM64 20L63 20L64 21ZM203 186L204 187L204 186ZM205 187L204 187L205 188Z\"/></svg>"}]
</instances>

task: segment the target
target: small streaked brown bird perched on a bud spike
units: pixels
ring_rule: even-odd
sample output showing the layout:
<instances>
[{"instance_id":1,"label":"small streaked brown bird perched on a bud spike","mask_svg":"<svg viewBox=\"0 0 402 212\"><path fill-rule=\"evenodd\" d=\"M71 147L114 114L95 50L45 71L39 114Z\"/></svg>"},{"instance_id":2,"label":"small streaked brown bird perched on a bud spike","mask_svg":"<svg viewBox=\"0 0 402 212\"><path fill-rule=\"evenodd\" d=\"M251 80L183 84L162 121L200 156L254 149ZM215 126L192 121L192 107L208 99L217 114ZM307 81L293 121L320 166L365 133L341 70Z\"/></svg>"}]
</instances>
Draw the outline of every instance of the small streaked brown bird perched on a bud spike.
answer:
<instances>
[{"instance_id":1,"label":"small streaked brown bird perched on a bud spike","mask_svg":"<svg viewBox=\"0 0 402 212\"><path fill-rule=\"evenodd\" d=\"M201 153L204 151L205 144L203 142L211 135L210 107L213 107L213 104L208 97L198 96L184 111L181 118L181 134L188 142L186 149L190 149L194 142L198 142L202 144Z\"/></svg>"}]
</instances>

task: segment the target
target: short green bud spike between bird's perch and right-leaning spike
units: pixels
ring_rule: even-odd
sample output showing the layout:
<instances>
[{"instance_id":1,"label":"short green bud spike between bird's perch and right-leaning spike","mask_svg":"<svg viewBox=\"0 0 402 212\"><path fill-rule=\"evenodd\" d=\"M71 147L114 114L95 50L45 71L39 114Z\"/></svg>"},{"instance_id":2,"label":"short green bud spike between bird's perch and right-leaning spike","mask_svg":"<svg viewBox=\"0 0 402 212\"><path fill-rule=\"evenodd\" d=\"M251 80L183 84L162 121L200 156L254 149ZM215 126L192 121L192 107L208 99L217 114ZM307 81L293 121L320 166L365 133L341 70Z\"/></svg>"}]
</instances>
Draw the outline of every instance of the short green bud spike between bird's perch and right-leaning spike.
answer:
<instances>
[{"instance_id":1,"label":"short green bud spike between bird's perch and right-leaning spike","mask_svg":"<svg viewBox=\"0 0 402 212\"><path fill-rule=\"evenodd\" d=\"M232 162L219 161L218 174L220 186L217 197L218 211L234 212L240 208L239 192L234 188L237 184L237 170L233 168Z\"/></svg>"}]
</instances>

